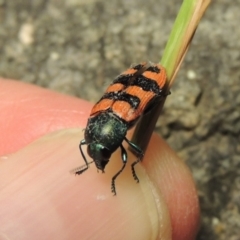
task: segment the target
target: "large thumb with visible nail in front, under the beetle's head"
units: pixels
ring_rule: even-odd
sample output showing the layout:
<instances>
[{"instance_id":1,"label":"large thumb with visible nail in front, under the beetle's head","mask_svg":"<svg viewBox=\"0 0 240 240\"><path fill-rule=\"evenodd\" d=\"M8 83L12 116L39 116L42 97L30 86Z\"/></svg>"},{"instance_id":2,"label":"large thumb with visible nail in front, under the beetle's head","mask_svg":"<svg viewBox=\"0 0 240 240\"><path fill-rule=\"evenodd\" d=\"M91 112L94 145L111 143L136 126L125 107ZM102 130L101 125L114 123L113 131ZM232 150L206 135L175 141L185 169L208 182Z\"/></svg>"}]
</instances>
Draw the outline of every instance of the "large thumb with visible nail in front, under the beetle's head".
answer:
<instances>
[{"instance_id":1,"label":"large thumb with visible nail in front, under the beetle's head","mask_svg":"<svg viewBox=\"0 0 240 240\"><path fill-rule=\"evenodd\" d=\"M79 176L69 173L84 164L78 149L82 137L80 129L59 131L9 157L0 174L6 189L0 198L0 230L9 238L24 232L24 239L43 234L46 239L145 240L159 234L171 239L166 204L140 165L140 183L128 164L116 181L117 196L110 185L121 166L118 151L106 174L94 165Z\"/></svg>"}]
</instances>

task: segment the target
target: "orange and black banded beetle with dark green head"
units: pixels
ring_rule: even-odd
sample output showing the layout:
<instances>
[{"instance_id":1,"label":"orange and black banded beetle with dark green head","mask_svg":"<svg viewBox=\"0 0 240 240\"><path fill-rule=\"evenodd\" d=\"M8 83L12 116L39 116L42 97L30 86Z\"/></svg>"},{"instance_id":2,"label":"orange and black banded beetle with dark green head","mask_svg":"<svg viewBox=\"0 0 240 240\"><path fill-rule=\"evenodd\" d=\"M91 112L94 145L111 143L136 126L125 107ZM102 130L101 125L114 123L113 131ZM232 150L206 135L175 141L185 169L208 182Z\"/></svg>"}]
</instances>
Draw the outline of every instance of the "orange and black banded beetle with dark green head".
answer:
<instances>
[{"instance_id":1,"label":"orange and black banded beetle with dark green head","mask_svg":"<svg viewBox=\"0 0 240 240\"><path fill-rule=\"evenodd\" d=\"M134 150L137 160L132 163L133 178L139 182L134 166L144 156L136 144L126 138L127 131L137 120L149 112L164 95L167 75L163 66L143 62L121 73L107 88L102 98L93 106L79 149L85 165L76 169L82 174L94 162L97 169L104 172L113 152L121 149L122 167L112 177L111 190L116 195L115 180L127 163L127 152L122 142L126 141ZM88 162L82 146L87 145L87 153L93 159Z\"/></svg>"}]
</instances>

